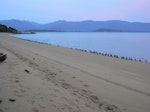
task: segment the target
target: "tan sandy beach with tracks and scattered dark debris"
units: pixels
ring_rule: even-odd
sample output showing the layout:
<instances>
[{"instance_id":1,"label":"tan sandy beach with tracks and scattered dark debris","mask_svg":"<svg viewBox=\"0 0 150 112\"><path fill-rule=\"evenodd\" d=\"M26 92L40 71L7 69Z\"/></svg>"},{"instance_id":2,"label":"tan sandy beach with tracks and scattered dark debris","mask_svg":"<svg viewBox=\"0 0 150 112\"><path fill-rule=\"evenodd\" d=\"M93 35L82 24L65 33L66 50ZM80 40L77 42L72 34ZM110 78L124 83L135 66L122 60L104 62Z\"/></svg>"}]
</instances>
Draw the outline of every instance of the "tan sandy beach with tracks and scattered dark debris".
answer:
<instances>
[{"instance_id":1,"label":"tan sandy beach with tracks and scattered dark debris","mask_svg":"<svg viewBox=\"0 0 150 112\"><path fill-rule=\"evenodd\" d=\"M0 33L0 112L149 112L150 63Z\"/></svg>"}]
</instances>

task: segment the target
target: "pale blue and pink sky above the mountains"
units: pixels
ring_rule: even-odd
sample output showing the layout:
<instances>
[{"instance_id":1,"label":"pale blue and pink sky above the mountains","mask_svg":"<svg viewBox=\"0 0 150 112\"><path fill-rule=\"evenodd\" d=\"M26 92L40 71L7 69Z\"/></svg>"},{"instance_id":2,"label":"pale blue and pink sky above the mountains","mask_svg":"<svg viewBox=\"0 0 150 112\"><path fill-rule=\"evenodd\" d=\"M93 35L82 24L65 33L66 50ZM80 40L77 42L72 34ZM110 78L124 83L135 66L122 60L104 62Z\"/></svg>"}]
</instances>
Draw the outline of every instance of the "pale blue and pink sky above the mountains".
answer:
<instances>
[{"instance_id":1,"label":"pale blue and pink sky above the mountains","mask_svg":"<svg viewBox=\"0 0 150 112\"><path fill-rule=\"evenodd\" d=\"M150 0L1 0L0 20L123 20L150 23Z\"/></svg>"}]
</instances>

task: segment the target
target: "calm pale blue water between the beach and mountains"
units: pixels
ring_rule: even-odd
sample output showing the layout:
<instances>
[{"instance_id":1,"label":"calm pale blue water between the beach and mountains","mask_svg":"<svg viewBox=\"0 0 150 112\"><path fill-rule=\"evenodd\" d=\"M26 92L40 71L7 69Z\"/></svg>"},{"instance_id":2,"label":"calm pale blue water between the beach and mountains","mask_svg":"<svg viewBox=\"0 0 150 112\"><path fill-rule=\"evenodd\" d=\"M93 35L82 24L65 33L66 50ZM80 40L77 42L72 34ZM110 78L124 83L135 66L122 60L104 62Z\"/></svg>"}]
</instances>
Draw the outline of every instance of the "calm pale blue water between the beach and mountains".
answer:
<instances>
[{"instance_id":1,"label":"calm pale blue water between the beach and mountains","mask_svg":"<svg viewBox=\"0 0 150 112\"><path fill-rule=\"evenodd\" d=\"M49 32L13 36L150 61L150 33Z\"/></svg>"}]
</instances>

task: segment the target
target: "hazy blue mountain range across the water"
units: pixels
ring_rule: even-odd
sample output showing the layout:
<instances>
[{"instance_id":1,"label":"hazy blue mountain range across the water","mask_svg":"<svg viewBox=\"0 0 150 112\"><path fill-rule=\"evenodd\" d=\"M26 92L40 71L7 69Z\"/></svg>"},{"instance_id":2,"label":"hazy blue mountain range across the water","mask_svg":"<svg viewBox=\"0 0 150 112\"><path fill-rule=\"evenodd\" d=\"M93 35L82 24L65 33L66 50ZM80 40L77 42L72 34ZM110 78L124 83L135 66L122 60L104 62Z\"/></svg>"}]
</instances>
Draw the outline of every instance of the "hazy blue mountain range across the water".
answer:
<instances>
[{"instance_id":1,"label":"hazy blue mountain range across the water","mask_svg":"<svg viewBox=\"0 0 150 112\"><path fill-rule=\"evenodd\" d=\"M65 31L65 32L150 32L150 23L109 21L56 21L40 24L21 20L0 20L0 24L16 28L20 31Z\"/></svg>"}]
</instances>

